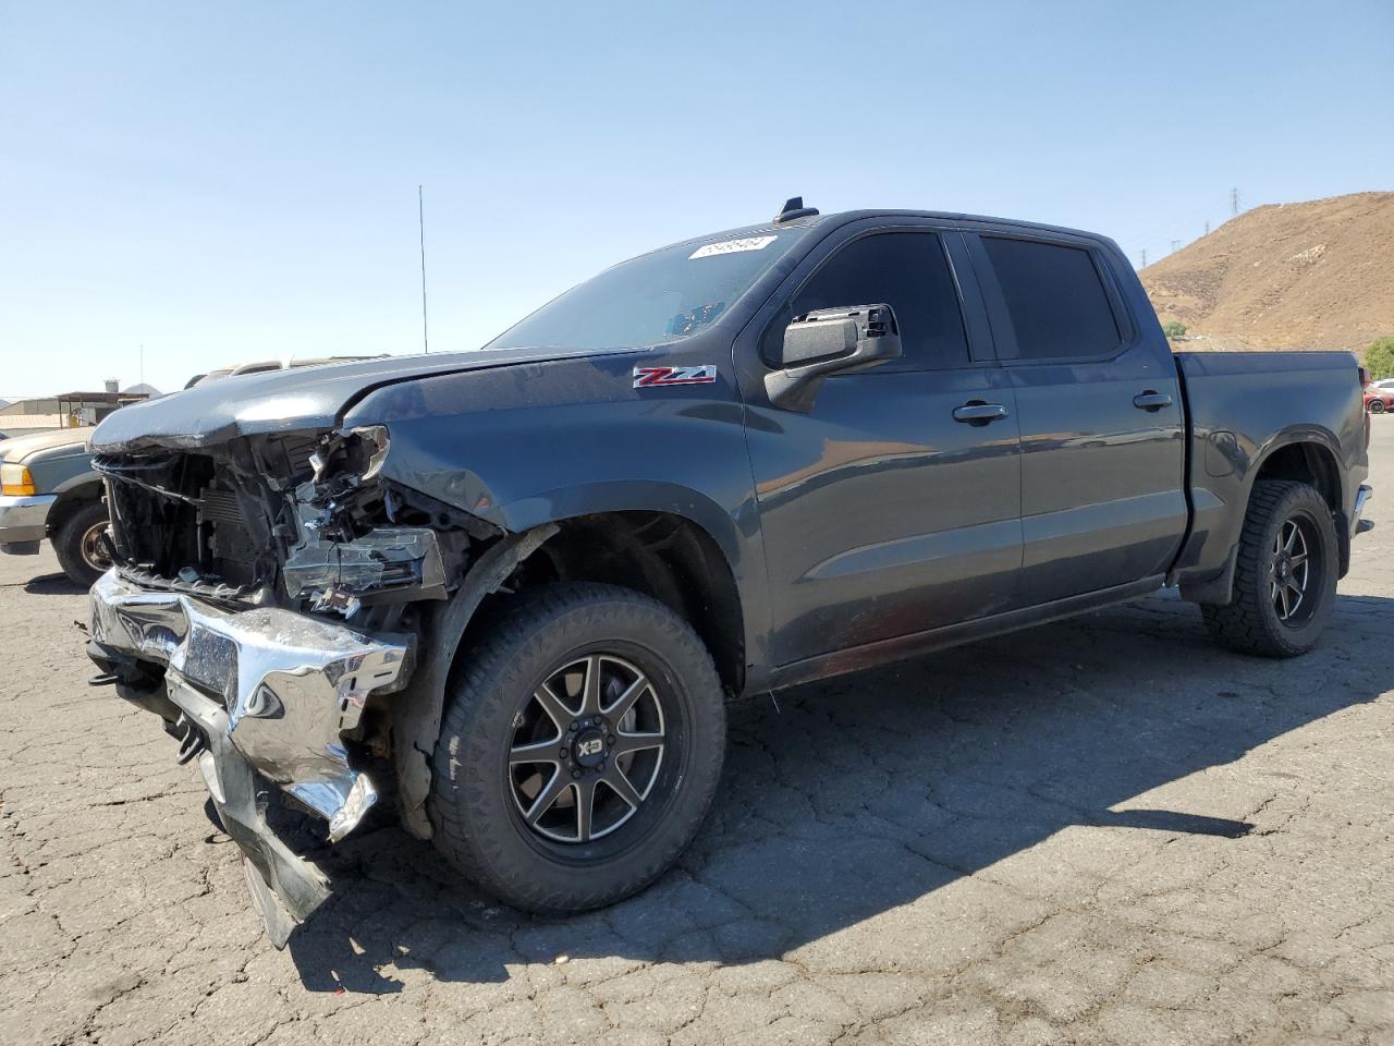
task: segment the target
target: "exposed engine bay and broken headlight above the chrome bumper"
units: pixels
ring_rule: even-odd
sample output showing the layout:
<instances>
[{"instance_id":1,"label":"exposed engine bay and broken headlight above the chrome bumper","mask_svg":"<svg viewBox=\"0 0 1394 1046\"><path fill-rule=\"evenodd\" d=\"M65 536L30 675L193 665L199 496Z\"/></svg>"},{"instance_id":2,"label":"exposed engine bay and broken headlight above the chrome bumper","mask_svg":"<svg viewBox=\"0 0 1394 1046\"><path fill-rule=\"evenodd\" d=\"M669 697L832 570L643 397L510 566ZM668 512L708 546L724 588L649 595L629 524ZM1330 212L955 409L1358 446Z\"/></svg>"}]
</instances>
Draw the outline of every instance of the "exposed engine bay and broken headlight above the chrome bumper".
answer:
<instances>
[{"instance_id":1,"label":"exposed engine bay and broken headlight above the chrome bumper","mask_svg":"<svg viewBox=\"0 0 1394 1046\"><path fill-rule=\"evenodd\" d=\"M404 604L446 598L489 524L378 473L372 425L233 439L198 452L99 455L117 572L219 602L396 628Z\"/></svg>"}]
</instances>

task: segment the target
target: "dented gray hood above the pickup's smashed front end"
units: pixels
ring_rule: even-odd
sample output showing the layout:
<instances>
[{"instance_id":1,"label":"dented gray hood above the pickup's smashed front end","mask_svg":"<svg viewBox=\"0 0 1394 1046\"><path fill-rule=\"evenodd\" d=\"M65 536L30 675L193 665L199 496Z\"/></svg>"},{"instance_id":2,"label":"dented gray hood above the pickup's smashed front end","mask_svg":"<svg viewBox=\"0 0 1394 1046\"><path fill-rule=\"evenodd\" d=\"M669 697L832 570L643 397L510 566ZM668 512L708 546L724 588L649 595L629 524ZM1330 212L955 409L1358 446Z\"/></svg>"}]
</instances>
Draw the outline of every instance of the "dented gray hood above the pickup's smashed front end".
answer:
<instances>
[{"instance_id":1,"label":"dented gray hood above the pickup's smashed front end","mask_svg":"<svg viewBox=\"0 0 1394 1046\"><path fill-rule=\"evenodd\" d=\"M92 449L98 453L158 446L194 449L236 437L333 428L348 406L383 385L438 374L601 354L609 353L477 349L244 374L123 407L92 432Z\"/></svg>"}]
</instances>

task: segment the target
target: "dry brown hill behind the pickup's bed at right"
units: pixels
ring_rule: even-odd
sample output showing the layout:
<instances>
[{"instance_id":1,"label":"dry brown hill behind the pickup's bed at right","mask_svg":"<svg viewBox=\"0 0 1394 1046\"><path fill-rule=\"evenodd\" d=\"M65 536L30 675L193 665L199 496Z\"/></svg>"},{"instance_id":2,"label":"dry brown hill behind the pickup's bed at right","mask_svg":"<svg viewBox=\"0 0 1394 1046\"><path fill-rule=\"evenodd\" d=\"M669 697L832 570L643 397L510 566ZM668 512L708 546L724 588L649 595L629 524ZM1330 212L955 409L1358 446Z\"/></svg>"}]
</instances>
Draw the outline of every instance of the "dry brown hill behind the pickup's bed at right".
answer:
<instances>
[{"instance_id":1,"label":"dry brown hill behind the pickup's bed at right","mask_svg":"<svg viewBox=\"0 0 1394 1046\"><path fill-rule=\"evenodd\" d=\"M1394 192L1259 206L1140 276L1186 349L1363 349L1394 333Z\"/></svg>"}]
</instances>

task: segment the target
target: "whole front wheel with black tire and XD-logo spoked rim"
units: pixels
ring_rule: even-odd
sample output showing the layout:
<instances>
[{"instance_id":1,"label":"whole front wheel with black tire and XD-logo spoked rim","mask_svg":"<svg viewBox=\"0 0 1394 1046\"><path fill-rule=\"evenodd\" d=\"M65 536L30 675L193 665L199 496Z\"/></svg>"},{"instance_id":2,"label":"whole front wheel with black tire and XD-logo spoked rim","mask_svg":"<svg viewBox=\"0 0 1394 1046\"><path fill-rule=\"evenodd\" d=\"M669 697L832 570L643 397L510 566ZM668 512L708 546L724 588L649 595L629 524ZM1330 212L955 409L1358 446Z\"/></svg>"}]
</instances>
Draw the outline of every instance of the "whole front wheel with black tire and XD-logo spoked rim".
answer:
<instances>
[{"instance_id":1,"label":"whole front wheel with black tire and XD-logo spoked rim","mask_svg":"<svg viewBox=\"0 0 1394 1046\"><path fill-rule=\"evenodd\" d=\"M552 915L668 870L725 756L721 682L691 628L627 589L549 586L519 597L464 658L432 781L446 859Z\"/></svg>"}]
</instances>

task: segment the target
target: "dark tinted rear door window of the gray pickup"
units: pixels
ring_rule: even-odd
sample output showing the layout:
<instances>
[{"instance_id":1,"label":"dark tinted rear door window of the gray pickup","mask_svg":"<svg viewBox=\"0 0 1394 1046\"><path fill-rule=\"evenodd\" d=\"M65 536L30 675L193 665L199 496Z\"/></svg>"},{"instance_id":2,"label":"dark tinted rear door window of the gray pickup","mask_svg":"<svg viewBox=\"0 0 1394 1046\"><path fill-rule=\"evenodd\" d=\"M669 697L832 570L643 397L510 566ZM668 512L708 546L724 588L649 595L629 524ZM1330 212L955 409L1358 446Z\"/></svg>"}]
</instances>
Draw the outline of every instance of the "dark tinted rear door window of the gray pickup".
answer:
<instances>
[{"instance_id":1,"label":"dark tinted rear door window of the gray pickup","mask_svg":"<svg viewBox=\"0 0 1394 1046\"><path fill-rule=\"evenodd\" d=\"M1107 356L1122 338L1108 291L1083 247L984 236L1023 360Z\"/></svg>"}]
</instances>

